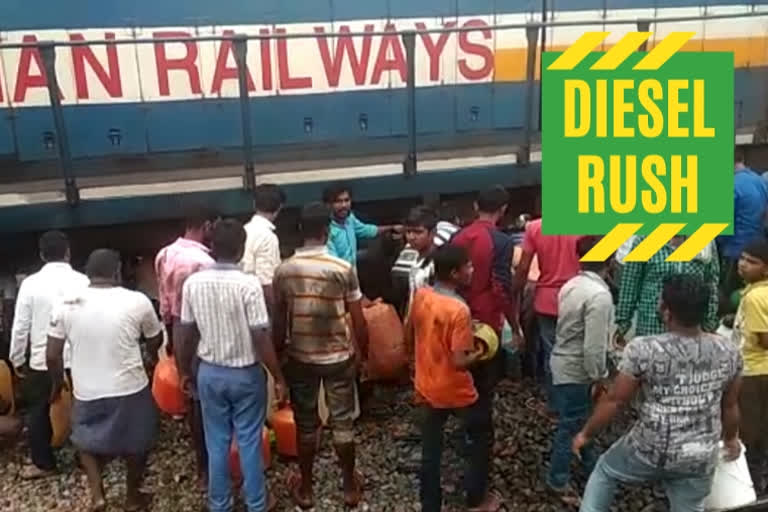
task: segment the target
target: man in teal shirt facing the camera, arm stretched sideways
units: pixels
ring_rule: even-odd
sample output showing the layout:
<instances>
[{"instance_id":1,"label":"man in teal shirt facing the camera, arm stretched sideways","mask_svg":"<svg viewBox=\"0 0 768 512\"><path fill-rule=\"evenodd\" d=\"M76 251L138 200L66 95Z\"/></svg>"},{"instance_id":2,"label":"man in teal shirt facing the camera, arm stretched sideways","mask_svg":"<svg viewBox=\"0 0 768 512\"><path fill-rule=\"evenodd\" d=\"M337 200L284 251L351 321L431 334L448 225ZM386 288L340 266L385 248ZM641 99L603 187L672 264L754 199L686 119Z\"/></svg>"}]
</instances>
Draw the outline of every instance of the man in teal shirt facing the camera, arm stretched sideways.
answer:
<instances>
[{"instance_id":1,"label":"man in teal shirt facing the camera, arm stretched sideways","mask_svg":"<svg viewBox=\"0 0 768 512\"><path fill-rule=\"evenodd\" d=\"M391 231L402 231L402 226L377 226L366 224L352 213L352 197L349 186L334 183L323 191L323 201L331 209L331 224L328 232L328 251L331 255L357 266L357 240L376 238Z\"/></svg>"}]
</instances>

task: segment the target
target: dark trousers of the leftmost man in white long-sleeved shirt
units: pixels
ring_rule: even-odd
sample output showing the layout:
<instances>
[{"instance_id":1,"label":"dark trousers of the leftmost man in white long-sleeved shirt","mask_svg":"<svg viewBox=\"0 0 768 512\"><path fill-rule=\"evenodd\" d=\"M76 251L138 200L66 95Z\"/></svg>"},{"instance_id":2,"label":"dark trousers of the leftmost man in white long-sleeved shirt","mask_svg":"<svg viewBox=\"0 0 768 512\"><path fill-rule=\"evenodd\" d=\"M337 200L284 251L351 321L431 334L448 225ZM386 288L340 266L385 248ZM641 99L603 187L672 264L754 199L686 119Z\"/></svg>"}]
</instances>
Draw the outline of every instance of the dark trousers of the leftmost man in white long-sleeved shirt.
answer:
<instances>
[{"instance_id":1,"label":"dark trousers of the leftmost man in white long-sleeved shirt","mask_svg":"<svg viewBox=\"0 0 768 512\"><path fill-rule=\"evenodd\" d=\"M56 469L56 457L51 448L51 377L47 371L29 370L24 379L25 417L32 463L40 469Z\"/></svg>"}]
</instances>

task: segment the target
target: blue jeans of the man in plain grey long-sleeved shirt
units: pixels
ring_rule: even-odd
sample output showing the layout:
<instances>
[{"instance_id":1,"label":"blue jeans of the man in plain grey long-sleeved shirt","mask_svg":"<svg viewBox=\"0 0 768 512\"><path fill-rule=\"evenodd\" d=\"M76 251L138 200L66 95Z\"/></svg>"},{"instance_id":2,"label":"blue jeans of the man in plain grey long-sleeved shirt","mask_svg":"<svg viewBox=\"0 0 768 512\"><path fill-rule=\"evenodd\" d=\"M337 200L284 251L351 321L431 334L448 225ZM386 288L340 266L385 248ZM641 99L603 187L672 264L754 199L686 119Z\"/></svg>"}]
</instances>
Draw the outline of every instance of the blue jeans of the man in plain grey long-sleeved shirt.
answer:
<instances>
[{"instance_id":1,"label":"blue jeans of the man in plain grey long-sleeved shirt","mask_svg":"<svg viewBox=\"0 0 768 512\"><path fill-rule=\"evenodd\" d=\"M560 384L552 387L552 405L557 412L557 430L552 440L552 454L547 484L562 490L571 479L571 442L582 429L592 412L589 384ZM597 463L597 449L589 443L581 451L581 460L587 474Z\"/></svg>"}]
</instances>

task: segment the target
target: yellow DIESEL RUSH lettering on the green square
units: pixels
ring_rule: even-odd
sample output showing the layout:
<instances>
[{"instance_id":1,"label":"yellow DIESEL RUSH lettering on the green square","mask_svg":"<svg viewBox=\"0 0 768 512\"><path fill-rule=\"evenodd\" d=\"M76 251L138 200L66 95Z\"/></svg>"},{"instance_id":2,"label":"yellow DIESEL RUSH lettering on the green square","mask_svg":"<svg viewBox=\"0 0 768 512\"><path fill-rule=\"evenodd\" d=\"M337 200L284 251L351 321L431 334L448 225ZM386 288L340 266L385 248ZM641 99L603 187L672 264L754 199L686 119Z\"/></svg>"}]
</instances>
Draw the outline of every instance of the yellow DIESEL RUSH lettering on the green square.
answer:
<instances>
[{"instance_id":1,"label":"yellow DIESEL RUSH lettering on the green square","mask_svg":"<svg viewBox=\"0 0 768 512\"><path fill-rule=\"evenodd\" d=\"M608 89L611 88L609 100ZM627 91L636 89L632 101ZM582 138L713 138L704 118L703 80L565 80L565 137ZM684 101L682 97L691 98ZM666 98L666 109L659 102ZM612 115L608 116L609 101ZM592 119L594 105L594 119ZM692 113L692 115L684 115ZM578 116L577 116L578 113ZM631 115L636 113L636 115ZM687 120L687 124L686 121ZM631 121L634 121L632 123ZM682 123L682 124L681 124ZM663 142L659 141L660 147ZM606 175L607 168L607 175ZM659 179L669 173L667 189ZM639 177L638 177L639 175ZM582 154L578 159L579 213L605 213L606 184L612 213L698 211L698 156L658 154ZM685 198L685 201L683 201Z\"/></svg>"}]
</instances>

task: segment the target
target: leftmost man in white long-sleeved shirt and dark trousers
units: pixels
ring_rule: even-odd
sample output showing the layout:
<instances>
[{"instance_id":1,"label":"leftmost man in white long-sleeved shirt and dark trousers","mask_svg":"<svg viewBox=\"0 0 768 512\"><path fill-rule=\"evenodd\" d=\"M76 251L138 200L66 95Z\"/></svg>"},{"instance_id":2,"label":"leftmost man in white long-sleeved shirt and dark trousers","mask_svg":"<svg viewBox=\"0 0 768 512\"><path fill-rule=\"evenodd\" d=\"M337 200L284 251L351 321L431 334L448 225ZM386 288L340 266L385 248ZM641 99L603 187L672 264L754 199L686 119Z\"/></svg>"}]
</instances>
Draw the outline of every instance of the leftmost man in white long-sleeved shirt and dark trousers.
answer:
<instances>
[{"instance_id":1,"label":"leftmost man in white long-sleeved shirt and dark trousers","mask_svg":"<svg viewBox=\"0 0 768 512\"><path fill-rule=\"evenodd\" d=\"M27 432L32 464L23 478L40 478L56 470L56 457L51 448L53 430L50 421L49 396L51 378L45 361L51 312L65 294L88 286L88 278L69 265L69 240L60 231L49 231L40 237L40 271L22 281L16 299L11 328L9 359L22 378L27 406ZM24 371L29 348L29 370ZM69 351L64 354L69 368Z\"/></svg>"}]
</instances>

